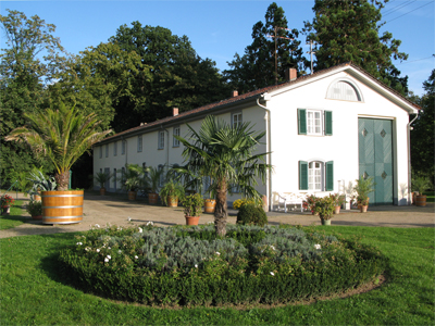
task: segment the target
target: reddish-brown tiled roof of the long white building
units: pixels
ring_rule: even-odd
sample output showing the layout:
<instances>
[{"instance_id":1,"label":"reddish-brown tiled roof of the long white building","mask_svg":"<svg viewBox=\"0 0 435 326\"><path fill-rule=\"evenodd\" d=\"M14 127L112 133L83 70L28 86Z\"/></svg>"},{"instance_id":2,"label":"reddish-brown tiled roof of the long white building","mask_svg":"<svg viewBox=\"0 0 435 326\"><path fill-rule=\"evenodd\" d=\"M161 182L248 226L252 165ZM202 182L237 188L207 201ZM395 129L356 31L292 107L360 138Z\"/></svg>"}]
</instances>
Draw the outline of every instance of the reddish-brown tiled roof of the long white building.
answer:
<instances>
[{"instance_id":1,"label":"reddish-brown tiled roof of the long white building","mask_svg":"<svg viewBox=\"0 0 435 326\"><path fill-rule=\"evenodd\" d=\"M307 80L309 80L311 78L315 78L315 77L325 75L325 74L327 74L327 73L330 73L332 71L338 70L338 68L344 67L344 66L351 66L351 67L356 68L361 74L364 74L365 76L371 78L373 82L377 83L381 87L385 88L389 92L393 92L397 97L401 98L405 102L409 103L410 105L414 106L415 109L420 109L420 106L418 106L417 104L414 104L411 101L409 101L407 98L405 98L398 91L396 91L393 88L390 88L390 87L384 85L383 83L378 82L376 78L374 78L371 74L365 72L360 66L358 66L358 65L356 65L356 64L353 64L351 62L346 62L346 63L341 63L341 64L338 64L338 65L335 65L335 66L332 66L332 67L328 67L328 68L321 70L319 72L313 73L312 75L300 76L295 80L289 80L289 82L285 82L285 83L282 83L282 84L278 84L278 85L263 87L263 88L260 88L260 89L257 89L257 90L244 93L244 95L239 95L237 97L228 98L228 99L225 99L225 100L222 100L222 101L219 101L219 102L210 103L210 104L197 108L197 109L192 109L192 110L189 110L189 111L186 111L186 112L182 112L176 116L167 116L167 117L164 117L164 118L151 122L151 123L147 123L147 124L144 124L144 125L140 125L140 126L137 126L137 127L134 127L134 128L117 133L116 135L110 136L110 137L103 139L103 140L101 140L101 142L105 142L105 140L109 140L109 139L112 139L112 138L122 137L124 135L128 135L128 134L141 130L141 129L145 130L145 129L151 128L152 126L156 127L156 126L159 126L159 125L164 124L164 123L176 122L177 120L184 120L184 118L189 117L190 115L195 115L197 113L206 113L209 110L214 111L216 109L225 108L226 105L229 105L229 104L233 104L233 103L241 102L244 100L248 100L248 99L251 99L251 98L257 98L259 95L262 95L264 92L273 91L275 89L284 88L284 87L287 87L287 86L290 86L290 85L291 86L293 85L297 85L299 83L307 82Z\"/></svg>"}]
</instances>

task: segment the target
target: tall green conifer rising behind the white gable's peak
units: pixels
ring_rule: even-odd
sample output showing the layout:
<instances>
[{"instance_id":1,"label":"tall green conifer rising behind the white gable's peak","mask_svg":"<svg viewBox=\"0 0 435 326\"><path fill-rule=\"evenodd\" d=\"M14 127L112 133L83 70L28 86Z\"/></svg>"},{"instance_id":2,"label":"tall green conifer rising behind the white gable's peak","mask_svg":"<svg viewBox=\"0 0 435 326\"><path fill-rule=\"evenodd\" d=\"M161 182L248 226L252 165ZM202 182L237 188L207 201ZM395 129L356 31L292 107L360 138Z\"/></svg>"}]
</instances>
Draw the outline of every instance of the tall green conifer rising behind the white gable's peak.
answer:
<instances>
[{"instance_id":1,"label":"tall green conifer rising behind the white gable's peak","mask_svg":"<svg viewBox=\"0 0 435 326\"><path fill-rule=\"evenodd\" d=\"M315 70L353 62L384 84L405 95L408 77L391 63L407 60L400 40L385 32L380 36L381 10L388 0L315 0L312 22L304 22L307 40L314 41Z\"/></svg>"}]
</instances>

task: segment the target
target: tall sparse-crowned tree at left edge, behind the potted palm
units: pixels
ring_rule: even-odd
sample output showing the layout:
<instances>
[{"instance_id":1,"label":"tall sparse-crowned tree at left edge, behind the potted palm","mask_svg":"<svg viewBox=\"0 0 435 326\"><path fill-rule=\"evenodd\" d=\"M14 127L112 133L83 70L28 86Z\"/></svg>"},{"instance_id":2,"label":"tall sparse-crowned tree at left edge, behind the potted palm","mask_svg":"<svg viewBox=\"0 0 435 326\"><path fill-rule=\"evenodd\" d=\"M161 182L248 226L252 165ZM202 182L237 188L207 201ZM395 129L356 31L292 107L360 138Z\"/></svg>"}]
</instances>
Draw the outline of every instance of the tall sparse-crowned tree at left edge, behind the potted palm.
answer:
<instances>
[{"instance_id":1,"label":"tall sparse-crowned tree at left edge, behind the potted palm","mask_svg":"<svg viewBox=\"0 0 435 326\"><path fill-rule=\"evenodd\" d=\"M13 171L29 171L33 165L45 166L20 143L4 141L13 128L23 125L23 114L38 108L45 98L45 86L51 83L64 61L64 50L53 36L55 26L39 16L8 10L0 15L5 49L0 54L0 180L9 181Z\"/></svg>"}]
</instances>

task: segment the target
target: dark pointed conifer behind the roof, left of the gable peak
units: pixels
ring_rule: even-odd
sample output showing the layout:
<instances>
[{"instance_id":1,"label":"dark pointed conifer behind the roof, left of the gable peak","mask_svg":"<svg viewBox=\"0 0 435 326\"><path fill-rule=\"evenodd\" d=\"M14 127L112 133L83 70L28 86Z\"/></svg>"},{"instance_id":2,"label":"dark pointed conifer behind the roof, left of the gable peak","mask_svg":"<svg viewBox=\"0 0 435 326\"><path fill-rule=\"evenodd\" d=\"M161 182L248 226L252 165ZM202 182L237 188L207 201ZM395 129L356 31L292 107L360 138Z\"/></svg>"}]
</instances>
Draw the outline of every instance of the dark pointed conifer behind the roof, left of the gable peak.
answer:
<instances>
[{"instance_id":1,"label":"dark pointed conifer behind the roof, left of the gable peak","mask_svg":"<svg viewBox=\"0 0 435 326\"><path fill-rule=\"evenodd\" d=\"M288 28L283 8L273 2L264 18L265 23L253 25L252 43L246 47L245 54L236 53L235 59L228 62L232 68L224 72L232 87L240 92L282 83L286 78L285 71L290 67L299 73L304 73L307 67L297 40L299 32Z\"/></svg>"}]
</instances>

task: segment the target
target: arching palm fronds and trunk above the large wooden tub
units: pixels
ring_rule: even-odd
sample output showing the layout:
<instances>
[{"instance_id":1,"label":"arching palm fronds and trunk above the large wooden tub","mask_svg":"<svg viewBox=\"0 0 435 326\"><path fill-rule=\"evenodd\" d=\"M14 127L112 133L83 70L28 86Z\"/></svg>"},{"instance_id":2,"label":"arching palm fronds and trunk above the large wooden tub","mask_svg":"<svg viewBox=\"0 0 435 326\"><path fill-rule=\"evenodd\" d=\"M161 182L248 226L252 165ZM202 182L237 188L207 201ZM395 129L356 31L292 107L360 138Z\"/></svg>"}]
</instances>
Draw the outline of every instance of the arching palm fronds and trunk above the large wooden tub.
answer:
<instances>
[{"instance_id":1,"label":"arching palm fronds and trunk above the large wooden tub","mask_svg":"<svg viewBox=\"0 0 435 326\"><path fill-rule=\"evenodd\" d=\"M101 124L95 113L84 115L77 109L60 103L58 110L47 109L24 114L28 124L15 128L5 140L27 142L38 155L47 156L57 170L58 190L67 190L70 168L94 143L112 130L96 131Z\"/></svg>"}]
</instances>

